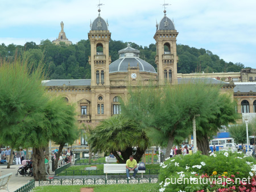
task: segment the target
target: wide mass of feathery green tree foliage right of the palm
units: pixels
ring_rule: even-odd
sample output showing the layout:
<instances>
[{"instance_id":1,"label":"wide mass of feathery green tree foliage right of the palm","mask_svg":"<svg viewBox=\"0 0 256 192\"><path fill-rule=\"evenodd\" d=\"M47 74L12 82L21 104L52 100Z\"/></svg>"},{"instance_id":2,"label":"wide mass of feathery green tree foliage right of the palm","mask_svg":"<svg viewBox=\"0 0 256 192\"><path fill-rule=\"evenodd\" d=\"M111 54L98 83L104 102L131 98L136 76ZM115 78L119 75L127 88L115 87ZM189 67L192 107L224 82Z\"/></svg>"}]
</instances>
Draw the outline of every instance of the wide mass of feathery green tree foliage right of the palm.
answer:
<instances>
[{"instance_id":1,"label":"wide mass of feathery green tree foliage right of the palm","mask_svg":"<svg viewBox=\"0 0 256 192\"><path fill-rule=\"evenodd\" d=\"M218 85L187 82L178 86L138 87L129 92L128 101L121 101L122 114L141 122L154 144L167 146L168 154L174 140L179 143L191 134L195 115L200 115L196 118L197 132L207 140L217 133L218 127L236 118L233 103L229 96L220 94ZM200 146L208 154L208 144Z\"/></svg>"}]
</instances>

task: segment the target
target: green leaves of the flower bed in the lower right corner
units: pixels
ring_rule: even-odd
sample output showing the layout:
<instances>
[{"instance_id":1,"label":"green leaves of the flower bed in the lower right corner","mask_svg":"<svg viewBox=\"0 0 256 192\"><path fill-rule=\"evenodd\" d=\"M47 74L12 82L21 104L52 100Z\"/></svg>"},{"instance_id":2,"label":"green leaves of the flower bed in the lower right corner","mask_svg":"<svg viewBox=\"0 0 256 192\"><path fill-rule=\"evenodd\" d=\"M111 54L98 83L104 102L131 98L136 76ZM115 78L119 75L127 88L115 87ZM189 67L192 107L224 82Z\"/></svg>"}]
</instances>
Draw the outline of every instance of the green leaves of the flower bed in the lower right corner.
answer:
<instances>
[{"instance_id":1,"label":"green leaves of the flower bed in the lower right corner","mask_svg":"<svg viewBox=\"0 0 256 192\"><path fill-rule=\"evenodd\" d=\"M228 153L228 157L226 157L224 152L216 152L212 153L211 156L200 155L200 152L197 152L193 155L186 156L176 156L174 158L170 158L164 162L164 166L160 169L159 181L162 182L162 187L166 178L172 178L172 184L166 187L165 191L197 191L197 190L205 190L209 189L210 191L216 190L220 187L220 185L208 185L207 184L195 184L195 183L187 183L185 182L182 185L178 183L174 184L175 179L181 177L180 172L183 172L183 178L199 178L202 175L207 175L210 178L215 178L213 176L213 172L217 172L216 178L221 176L224 178L248 178L250 176L249 172L253 172L251 170L251 165L255 165L256 161L252 157L245 157L241 153ZM247 164L247 162L251 162L251 165ZM205 163L205 165L204 165ZM178 164L178 165L177 165ZM167 165L165 167L165 165ZM200 168L193 167L195 165L200 165ZM194 173L192 173L194 172ZM224 173L227 172L227 173ZM233 175L234 177L232 177ZM239 184L239 183L238 183ZM228 188L228 186L226 186Z\"/></svg>"}]
</instances>

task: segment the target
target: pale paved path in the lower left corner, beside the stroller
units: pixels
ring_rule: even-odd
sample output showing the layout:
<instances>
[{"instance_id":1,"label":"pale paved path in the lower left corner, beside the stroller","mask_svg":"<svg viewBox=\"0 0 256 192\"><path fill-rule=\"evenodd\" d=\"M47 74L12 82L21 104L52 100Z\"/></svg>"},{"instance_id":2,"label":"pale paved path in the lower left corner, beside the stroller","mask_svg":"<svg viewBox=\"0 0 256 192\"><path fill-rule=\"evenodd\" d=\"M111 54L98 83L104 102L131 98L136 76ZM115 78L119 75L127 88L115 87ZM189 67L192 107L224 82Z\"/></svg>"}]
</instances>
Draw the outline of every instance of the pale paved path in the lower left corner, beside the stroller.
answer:
<instances>
[{"instance_id":1,"label":"pale paved path in the lower left corner, beside the stroller","mask_svg":"<svg viewBox=\"0 0 256 192\"><path fill-rule=\"evenodd\" d=\"M5 174L13 173L13 176L11 176L11 179L8 185L10 192L13 192L19 189L20 187L26 185L29 181L34 179L34 177L29 177L29 176L23 177L23 176L20 176L20 174L18 175L18 177L16 177L15 174L17 173L17 170L19 169L20 166L21 165L11 165L10 169L7 169L7 164L0 166L0 171L2 176ZM38 186L38 185L39 185L39 182L36 181L35 186Z\"/></svg>"}]
</instances>

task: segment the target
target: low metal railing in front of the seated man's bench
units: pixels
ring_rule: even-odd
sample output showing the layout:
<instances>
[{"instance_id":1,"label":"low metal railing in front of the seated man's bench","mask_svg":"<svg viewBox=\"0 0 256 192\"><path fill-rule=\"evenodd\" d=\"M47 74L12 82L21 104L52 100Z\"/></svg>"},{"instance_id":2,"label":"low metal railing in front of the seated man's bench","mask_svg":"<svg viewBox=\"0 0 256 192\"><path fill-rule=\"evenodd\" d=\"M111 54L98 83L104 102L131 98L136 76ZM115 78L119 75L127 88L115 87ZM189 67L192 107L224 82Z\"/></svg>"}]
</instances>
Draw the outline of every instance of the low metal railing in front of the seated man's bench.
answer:
<instances>
[{"instance_id":1,"label":"low metal railing in front of the seated man's bench","mask_svg":"<svg viewBox=\"0 0 256 192\"><path fill-rule=\"evenodd\" d=\"M135 180L127 180L127 178L64 178L39 181L39 186L48 185L113 185L113 184L128 184L128 183L156 183L158 177L152 178L135 178Z\"/></svg>"}]
</instances>

